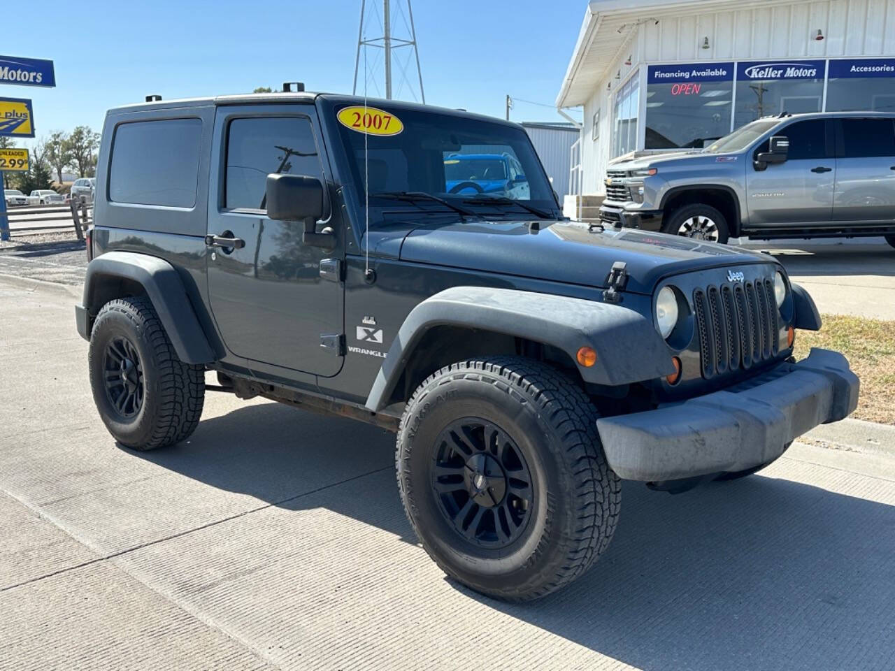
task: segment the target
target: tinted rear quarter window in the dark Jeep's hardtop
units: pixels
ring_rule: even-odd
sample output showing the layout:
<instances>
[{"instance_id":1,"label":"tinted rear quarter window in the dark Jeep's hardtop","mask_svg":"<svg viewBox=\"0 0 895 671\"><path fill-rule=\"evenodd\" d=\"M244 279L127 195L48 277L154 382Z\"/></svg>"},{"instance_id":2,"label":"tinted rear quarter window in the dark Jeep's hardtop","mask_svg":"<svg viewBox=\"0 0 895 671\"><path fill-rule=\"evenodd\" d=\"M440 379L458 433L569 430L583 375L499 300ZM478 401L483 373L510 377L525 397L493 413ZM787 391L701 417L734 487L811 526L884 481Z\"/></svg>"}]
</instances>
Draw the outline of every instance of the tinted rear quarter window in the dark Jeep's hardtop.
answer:
<instances>
[{"instance_id":1,"label":"tinted rear quarter window in the dark Jeep's hardtop","mask_svg":"<svg viewBox=\"0 0 895 671\"><path fill-rule=\"evenodd\" d=\"M109 200L133 205L194 207L201 141L200 119L120 124L112 142Z\"/></svg>"}]
</instances>

